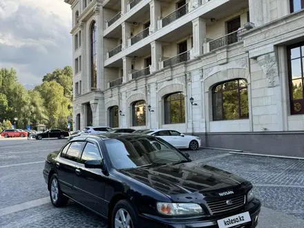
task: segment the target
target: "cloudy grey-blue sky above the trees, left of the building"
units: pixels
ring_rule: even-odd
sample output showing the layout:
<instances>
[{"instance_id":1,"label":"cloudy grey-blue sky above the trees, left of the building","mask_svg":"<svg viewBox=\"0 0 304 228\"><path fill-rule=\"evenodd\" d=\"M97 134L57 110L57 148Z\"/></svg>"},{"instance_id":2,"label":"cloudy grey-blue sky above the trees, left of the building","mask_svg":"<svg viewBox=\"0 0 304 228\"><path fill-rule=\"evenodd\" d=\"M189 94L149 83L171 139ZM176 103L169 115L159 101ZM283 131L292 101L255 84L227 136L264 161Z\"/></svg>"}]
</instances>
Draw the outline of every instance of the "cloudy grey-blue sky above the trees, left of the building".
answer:
<instances>
[{"instance_id":1,"label":"cloudy grey-blue sky above the trees, left of the building","mask_svg":"<svg viewBox=\"0 0 304 228\"><path fill-rule=\"evenodd\" d=\"M72 13L64 0L0 0L0 68L22 84L72 65Z\"/></svg>"}]
</instances>

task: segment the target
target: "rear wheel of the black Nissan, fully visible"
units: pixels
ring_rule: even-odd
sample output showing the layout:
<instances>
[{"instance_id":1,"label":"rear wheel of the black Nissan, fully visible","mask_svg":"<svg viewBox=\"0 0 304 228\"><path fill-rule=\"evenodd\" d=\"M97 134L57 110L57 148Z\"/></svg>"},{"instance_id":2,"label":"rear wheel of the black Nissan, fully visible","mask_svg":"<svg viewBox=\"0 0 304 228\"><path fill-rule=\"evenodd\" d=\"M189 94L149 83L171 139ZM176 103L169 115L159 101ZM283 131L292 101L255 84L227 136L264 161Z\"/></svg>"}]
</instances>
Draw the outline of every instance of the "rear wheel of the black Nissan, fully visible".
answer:
<instances>
[{"instance_id":1,"label":"rear wheel of the black Nissan, fully visible","mask_svg":"<svg viewBox=\"0 0 304 228\"><path fill-rule=\"evenodd\" d=\"M50 177L50 202L55 207L62 207L68 203L68 198L62 194L56 174Z\"/></svg>"}]
</instances>

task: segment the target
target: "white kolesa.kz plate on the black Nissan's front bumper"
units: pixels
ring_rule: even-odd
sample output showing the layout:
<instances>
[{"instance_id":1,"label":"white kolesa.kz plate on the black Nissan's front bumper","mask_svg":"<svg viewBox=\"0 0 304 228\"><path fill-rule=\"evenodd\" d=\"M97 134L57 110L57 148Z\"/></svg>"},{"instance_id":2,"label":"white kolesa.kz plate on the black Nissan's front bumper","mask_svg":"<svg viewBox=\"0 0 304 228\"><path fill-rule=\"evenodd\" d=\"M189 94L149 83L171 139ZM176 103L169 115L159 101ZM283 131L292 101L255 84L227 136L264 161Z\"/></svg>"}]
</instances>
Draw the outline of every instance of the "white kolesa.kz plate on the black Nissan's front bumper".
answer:
<instances>
[{"instance_id":1,"label":"white kolesa.kz plate on the black Nissan's front bumper","mask_svg":"<svg viewBox=\"0 0 304 228\"><path fill-rule=\"evenodd\" d=\"M222 218L218 220L219 228L229 228L229 227L242 227L242 224L251 222L249 212L239 213L235 216L230 216L227 218Z\"/></svg>"}]
</instances>

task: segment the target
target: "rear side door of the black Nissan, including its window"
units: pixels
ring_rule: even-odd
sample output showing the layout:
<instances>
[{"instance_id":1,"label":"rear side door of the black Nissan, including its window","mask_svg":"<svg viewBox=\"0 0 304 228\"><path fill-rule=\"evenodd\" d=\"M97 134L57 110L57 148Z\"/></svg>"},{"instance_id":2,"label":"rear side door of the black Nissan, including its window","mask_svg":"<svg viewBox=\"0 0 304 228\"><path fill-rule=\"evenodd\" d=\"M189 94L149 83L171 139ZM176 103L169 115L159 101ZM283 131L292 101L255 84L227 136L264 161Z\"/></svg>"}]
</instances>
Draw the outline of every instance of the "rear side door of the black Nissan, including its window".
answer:
<instances>
[{"instance_id":1,"label":"rear side door of the black Nissan, including its window","mask_svg":"<svg viewBox=\"0 0 304 228\"><path fill-rule=\"evenodd\" d=\"M57 173L61 190L68 196L77 198L73 185L76 178L76 164L81 154L84 141L68 143L62 150L59 159L56 161Z\"/></svg>"}]
</instances>

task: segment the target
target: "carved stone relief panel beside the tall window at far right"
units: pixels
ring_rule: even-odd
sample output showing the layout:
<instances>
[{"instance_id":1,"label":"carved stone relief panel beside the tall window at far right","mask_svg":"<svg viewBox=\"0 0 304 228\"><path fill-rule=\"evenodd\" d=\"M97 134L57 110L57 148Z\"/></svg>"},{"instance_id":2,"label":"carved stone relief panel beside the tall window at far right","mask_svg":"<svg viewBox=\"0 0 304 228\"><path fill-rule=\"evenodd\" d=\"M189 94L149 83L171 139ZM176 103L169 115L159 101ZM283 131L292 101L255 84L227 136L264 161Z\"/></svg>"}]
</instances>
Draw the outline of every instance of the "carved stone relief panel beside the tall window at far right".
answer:
<instances>
[{"instance_id":1,"label":"carved stone relief panel beside the tall window at far right","mask_svg":"<svg viewBox=\"0 0 304 228\"><path fill-rule=\"evenodd\" d=\"M265 76L267 77L267 86L278 86L278 64L276 62L275 53L258 57L258 64L260 64Z\"/></svg>"}]
</instances>

